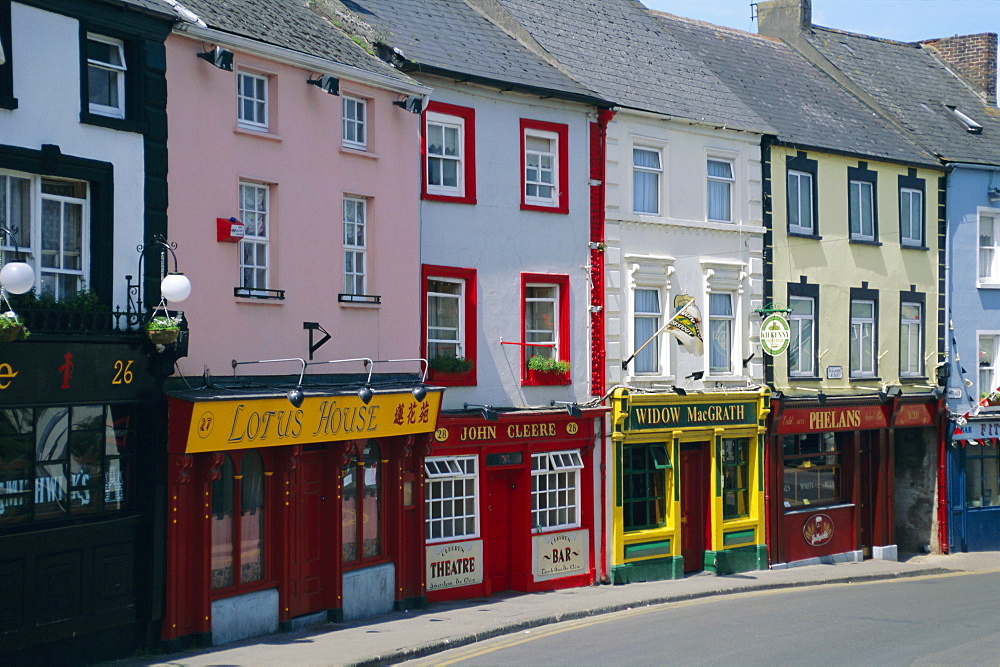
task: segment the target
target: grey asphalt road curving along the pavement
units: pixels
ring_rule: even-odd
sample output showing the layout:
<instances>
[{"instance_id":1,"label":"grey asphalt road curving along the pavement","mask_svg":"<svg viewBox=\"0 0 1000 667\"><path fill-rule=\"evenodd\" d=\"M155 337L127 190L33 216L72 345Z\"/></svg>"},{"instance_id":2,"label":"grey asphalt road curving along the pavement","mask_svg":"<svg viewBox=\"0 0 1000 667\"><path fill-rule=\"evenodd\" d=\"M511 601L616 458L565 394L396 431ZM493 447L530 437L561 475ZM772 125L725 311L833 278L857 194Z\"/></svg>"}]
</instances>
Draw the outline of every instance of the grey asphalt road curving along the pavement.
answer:
<instances>
[{"instance_id":1,"label":"grey asphalt road curving along the pavement","mask_svg":"<svg viewBox=\"0 0 1000 667\"><path fill-rule=\"evenodd\" d=\"M1000 572L644 607L406 664L1000 665Z\"/></svg>"}]
</instances>

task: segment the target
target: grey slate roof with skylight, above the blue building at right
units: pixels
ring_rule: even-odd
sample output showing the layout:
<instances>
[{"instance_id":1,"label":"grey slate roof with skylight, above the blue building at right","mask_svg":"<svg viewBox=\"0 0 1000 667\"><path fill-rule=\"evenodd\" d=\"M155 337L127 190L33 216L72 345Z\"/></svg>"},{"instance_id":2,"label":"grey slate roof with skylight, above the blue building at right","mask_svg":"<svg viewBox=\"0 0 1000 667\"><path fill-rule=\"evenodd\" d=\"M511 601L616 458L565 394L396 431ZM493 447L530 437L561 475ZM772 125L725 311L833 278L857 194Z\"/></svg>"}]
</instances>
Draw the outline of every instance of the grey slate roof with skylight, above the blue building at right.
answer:
<instances>
[{"instance_id":1,"label":"grey slate roof with skylight, above the blue building at right","mask_svg":"<svg viewBox=\"0 0 1000 667\"><path fill-rule=\"evenodd\" d=\"M973 93L928 47L820 26L803 36L942 159L1000 164L1000 111ZM946 104L981 124L982 133L967 132Z\"/></svg>"}]
</instances>

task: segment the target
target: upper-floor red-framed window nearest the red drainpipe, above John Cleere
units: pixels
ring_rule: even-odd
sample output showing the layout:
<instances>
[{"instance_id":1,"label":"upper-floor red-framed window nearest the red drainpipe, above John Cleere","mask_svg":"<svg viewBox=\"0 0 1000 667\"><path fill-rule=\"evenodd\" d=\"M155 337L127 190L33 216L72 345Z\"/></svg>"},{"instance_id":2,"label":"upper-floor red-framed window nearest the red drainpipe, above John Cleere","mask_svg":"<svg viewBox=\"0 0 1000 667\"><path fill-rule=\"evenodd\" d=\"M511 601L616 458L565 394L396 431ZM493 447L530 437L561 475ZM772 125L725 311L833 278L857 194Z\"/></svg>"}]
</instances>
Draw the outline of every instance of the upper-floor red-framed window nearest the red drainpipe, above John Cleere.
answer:
<instances>
[{"instance_id":1,"label":"upper-floor red-framed window nearest the red drainpipe, above John Cleere","mask_svg":"<svg viewBox=\"0 0 1000 667\"><path fill-rule=\"evenodd\" d=\"M569 213L569 126L521 119L521 209Z\"/></svg>"}]
</instances>

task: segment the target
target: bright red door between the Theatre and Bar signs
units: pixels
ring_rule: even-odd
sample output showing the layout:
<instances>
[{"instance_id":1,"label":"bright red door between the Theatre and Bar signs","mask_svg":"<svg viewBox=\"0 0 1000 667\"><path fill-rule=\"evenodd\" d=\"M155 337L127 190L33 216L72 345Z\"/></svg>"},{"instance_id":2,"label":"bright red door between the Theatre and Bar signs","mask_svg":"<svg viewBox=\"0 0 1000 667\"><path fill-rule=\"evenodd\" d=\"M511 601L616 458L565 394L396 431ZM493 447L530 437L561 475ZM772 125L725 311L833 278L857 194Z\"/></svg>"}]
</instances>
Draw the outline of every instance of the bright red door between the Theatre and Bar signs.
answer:
<instances>
[{"instance_id":1,"label":"bright red door between the Theatre and Bar signs","mask_svg":"<svg viewBox=\"0 0 1000 667\"><path fill-rule=\"evenodd\" d=\"M492 595L511 588L512 557L515 542L514 491L517 484L517 470L486 470L486 489L483 499L483 560L486 595Z\"/></svg>"}]
</instances>

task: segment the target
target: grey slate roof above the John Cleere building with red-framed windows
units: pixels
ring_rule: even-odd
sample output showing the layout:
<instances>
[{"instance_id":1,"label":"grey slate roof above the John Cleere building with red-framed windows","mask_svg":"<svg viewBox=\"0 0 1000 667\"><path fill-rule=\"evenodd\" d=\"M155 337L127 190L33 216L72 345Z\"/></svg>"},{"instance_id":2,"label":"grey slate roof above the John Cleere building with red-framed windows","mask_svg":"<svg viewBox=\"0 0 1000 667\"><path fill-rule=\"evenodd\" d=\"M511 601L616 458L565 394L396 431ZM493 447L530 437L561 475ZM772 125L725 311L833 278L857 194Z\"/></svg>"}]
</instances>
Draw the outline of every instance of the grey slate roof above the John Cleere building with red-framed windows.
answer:
<instances>
[{"instance_id":1,"label":"grey slate roof above the John Cleere building with red-framed windows","mask_svg":"<svg viewBox=\"0 0 1000 667\"><path fill-rule=\"evenodd\" d=\"M598 100L465 0L345 0L417 70L439 68L498 85L517 84ZM438 72L438 74L441 74ZM460 78L460 77L459 77Z\"/></svg>"}]
</instances>

